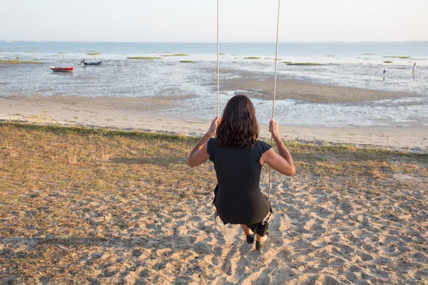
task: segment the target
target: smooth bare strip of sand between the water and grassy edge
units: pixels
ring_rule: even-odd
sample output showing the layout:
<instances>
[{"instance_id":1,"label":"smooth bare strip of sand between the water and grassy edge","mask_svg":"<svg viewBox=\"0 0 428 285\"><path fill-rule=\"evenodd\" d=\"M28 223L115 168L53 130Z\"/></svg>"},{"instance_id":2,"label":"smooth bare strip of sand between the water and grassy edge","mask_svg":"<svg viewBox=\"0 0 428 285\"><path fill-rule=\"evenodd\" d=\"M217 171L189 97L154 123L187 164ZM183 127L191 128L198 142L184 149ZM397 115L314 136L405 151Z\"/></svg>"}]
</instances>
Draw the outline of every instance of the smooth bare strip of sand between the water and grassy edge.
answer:
<instances>
[{"instance_id":1,"label":"smooth bare strip of sand between the water and grassy edge","mask_svg":"<svg viewBox=\"0 0 428 285\"><path fill-rule=\"evenodd\" d=\"M211 120L156 113L165 106L173 106L190 97L0 97L0 121L202 136L208 130ZM283 140L312 142L317 145L351 144L358 147L428 152L428 128L424 126L280 125L280 134ZM260 124L260 138L270 138L265 124Z\"/></svg>"}]
</instances>

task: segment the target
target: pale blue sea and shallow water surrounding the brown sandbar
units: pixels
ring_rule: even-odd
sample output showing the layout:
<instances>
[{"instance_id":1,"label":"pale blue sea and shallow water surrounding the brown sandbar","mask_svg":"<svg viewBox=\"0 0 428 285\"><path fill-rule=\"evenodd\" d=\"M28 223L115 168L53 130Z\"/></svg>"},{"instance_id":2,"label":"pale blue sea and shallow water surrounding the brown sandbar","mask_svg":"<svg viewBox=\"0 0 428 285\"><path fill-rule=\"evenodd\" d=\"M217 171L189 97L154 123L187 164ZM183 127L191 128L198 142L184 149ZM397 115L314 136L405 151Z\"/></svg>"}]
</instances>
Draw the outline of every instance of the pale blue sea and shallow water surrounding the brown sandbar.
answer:
<instances>
[{"instance_id":1,"label":"pale blue sea and shallow water surrounding the brown sandbar","mask_svg":"<svg viewBox=\"0 0 428 285\"><path fill-rule=\"evenodd\" d=\"M192 117L215 116L215 43L34 43L0 42L0 60L41 61L40 65L0 65L0 95L162 96L194 95L175 108L157 112ZM221 80L245 72L273 78L275 43L222 43ZM101 53L90 56L86 53ZM189 56L168 56L187 53ZM156 56L159 60L131 60ZM260 57L246 59L245 57ZM389 56L395 56L391 58ZM402 58L400 58L402 57ZM407 58L411 57L411 58ZM103 61L82 66L80 61ZM428 43L281 43L280 79L329 86L415 93L417 98L365 103L310 103L277 100L275 118L297 125L428 125ZM415 59L416 58L416 59ZM190 60L194 63L180 63ZM322 63L322 66L287 66ZM393 63L384 63L393 61ZM417 73L412 74L414 61ZM49 66L73 66L54 73ZM386 68L384 78L383 71ZM236 90L222 90L222 108ZM272 102L253 99L260 122L270 119Z\"/></svg>"}]
</instances>

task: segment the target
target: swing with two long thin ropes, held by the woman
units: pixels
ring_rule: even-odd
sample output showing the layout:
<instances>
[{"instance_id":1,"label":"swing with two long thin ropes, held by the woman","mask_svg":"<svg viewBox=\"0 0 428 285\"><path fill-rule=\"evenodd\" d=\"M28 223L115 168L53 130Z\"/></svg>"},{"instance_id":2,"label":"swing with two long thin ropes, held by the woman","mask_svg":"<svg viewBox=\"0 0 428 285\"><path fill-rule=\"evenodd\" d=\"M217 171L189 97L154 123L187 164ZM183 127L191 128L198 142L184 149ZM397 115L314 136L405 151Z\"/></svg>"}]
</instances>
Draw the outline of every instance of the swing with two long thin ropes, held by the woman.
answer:
<instances>
[{"instance_id":1,"label":"swing with two long thin ropes, held by the woman","mask_svg":"<svg viewBox=\"0 0 428 285\"><path fill-rule=\"evenodd\" d=\"M219 1L217 0L217 116L219 115L219 93L220 93L220 41L219 41ZM280 36L280 4L281 0L278 0L278 19L277 19L277 38L276 38L276 51L275 51L275 79L273 83L273 103L272 103L272 119L275 116L275 97L276 97L276 86L277 86L277 60L278 60L278 39ZM270 145L273 145L273 137L270 135ZM270 204L270 190L272 188L272 167L269 166L269 186L267 199ZM217 211L215 212L215 218L218 217ZM217 219L215 219L216 221ZM272 220L272 212L269 212L265 219L263 219L263 224L270 224Z\"/></svg>"}]
</instances>

